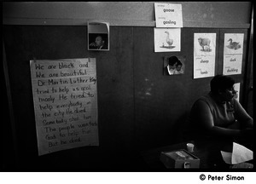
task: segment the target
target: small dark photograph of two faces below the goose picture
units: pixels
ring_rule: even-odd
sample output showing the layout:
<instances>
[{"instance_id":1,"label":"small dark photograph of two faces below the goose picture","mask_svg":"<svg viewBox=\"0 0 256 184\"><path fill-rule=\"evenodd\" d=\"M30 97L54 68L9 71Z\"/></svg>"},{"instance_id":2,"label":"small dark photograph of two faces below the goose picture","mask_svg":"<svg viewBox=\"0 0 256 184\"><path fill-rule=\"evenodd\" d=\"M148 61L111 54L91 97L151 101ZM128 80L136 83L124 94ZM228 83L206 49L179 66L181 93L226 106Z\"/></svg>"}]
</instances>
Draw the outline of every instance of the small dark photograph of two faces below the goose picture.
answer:
<instances>
[{"instance_id":1,"label":"small dark photograph of two faces below the goose picture","mask_svg":"<svg viewBox=\"0 0 256 184\"><path fill-rule=\"evenodd\" d=\"M164 75L178 75L185 72L185 56L165 56L164 57Z\"/></svg>"}]
</instances>

